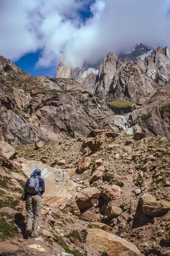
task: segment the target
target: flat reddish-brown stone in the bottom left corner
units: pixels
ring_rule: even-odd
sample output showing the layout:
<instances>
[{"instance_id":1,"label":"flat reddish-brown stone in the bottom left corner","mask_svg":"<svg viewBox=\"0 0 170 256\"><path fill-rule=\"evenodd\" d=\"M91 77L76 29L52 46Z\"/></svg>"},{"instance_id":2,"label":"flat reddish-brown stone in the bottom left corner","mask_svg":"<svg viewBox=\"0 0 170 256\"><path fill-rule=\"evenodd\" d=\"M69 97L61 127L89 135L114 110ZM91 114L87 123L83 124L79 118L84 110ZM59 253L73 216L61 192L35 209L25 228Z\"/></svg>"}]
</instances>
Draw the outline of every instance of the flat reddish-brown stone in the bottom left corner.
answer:
<instances>
[{"instance_id":1,"label":"flat reddish-brown stone in the bottom left corner","mask_svg":"<svg viewBox=\"0 0 170 256\"><path fill-rule=\"evenodd\" d=\"M8 241L2 241L0 242L0 255L2 256L8 256L8 255L22 255L26 256L27 253L24 253L22 248L18 245L11 244Z\"/></svg>"}]
</instances>

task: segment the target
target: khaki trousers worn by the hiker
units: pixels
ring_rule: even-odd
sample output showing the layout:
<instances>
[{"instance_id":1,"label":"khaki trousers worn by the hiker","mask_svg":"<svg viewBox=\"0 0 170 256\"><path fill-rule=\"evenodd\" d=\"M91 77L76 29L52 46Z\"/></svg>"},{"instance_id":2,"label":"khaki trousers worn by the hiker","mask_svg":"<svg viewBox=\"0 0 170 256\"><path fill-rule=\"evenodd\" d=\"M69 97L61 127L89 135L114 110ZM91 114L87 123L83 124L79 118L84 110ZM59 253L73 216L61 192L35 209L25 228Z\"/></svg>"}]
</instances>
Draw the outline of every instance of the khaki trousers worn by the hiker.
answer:
<instances>
[{"instance_id":1,"label":"khaki trousers worn by the hiker","mask_svg":"<svg viewBox=\"0 0 170 256\"><path fill-rule=\"evenodd\" d=\"M27 223L26 230L32 230L31 235L37 236L41 215L42 198L40 195L28 195L26 199Z\"/></svg>"}]
</instances>

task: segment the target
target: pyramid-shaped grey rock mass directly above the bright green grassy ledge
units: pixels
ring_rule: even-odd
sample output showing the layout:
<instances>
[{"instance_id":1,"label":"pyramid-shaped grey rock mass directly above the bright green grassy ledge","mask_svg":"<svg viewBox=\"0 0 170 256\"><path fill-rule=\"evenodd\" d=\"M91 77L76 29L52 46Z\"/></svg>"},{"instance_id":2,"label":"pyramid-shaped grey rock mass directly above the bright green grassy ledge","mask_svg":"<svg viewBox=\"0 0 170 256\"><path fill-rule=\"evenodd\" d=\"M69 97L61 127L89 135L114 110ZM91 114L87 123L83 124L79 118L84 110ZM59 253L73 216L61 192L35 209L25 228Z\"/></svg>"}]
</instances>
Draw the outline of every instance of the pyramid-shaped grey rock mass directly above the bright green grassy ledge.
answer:
<instances>
[{"instance_id":1,"label":"pyramid-shaped grey rock mass directly above the bright green grassy ledge","mask_svg":"<svg viewBox=\"0 0 170 256\"><path fill-rule=\"evenodd\" d=\"M114 73L110 81L108 98L125 99L137 102L153 95L159 86L133 61L125 61Z\"/></svg>"}]
</instances>

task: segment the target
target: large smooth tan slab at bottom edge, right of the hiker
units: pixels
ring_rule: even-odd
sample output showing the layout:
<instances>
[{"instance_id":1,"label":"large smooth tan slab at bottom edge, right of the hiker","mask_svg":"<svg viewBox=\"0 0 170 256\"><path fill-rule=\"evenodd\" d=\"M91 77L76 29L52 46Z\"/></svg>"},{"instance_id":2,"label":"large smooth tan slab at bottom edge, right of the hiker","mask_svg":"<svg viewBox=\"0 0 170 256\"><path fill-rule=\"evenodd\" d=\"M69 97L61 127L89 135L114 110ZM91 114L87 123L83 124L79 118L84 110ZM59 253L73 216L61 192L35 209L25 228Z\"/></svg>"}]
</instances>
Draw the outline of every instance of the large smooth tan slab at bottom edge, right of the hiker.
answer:
<instances>
[{"instance_id":1,"label":"large smooth tan slab at bottom edge, right of the hiker","mask_svg":"<svg viewBox=\"0 0 170 256\"><path fill-rule=\"evenodd\" d=\"M142 256L134 244L100 229L88 230L86 243L108 256Z\"/></svg>"}]
</instances>

